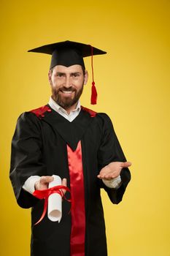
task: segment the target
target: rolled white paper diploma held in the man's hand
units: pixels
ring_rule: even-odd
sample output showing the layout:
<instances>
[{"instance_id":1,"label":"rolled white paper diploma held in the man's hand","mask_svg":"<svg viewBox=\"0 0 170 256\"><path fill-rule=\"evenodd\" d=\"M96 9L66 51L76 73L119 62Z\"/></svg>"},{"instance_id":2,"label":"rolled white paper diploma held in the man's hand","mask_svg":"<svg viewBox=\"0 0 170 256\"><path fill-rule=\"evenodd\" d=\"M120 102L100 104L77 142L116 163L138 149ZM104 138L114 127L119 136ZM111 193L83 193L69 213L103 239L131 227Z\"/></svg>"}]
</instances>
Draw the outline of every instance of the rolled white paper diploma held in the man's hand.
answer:
<instances>
[{"instance_id":1,"label":"rolled white paper diploma held in the man's hand","mask_svg":"<svg viewBox=\"0 0 170 256\"><path fill-rule=\"evenodd\" d=\"M48 188L60 186L61 177L53 175L54 180L48 185ZM48 219L52 222L60 222L62 217L62 198L58 193L54 193L48 197Z\"/></svg>"}]
</instances>

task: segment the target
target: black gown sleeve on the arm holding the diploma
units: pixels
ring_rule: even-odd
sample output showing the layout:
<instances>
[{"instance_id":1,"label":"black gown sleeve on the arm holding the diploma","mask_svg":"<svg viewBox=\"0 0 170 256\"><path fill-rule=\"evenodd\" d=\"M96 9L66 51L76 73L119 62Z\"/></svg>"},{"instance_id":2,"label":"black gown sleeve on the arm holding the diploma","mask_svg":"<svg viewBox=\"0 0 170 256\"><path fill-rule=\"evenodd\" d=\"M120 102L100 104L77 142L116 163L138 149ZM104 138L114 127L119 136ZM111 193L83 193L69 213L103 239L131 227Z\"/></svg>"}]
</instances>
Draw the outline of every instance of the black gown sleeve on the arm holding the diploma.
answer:
<instances>
[{"instance_id":1,"label":"black gown sleeve on the arm holding the diploma","mask_svg":"<svg viewBox=\"0 0 170 256\"><path fill-rule=\"evenodd\" d=\"M33 113L23 113L17 122L12 138L11 167L9 178L18 205L29 208L37 199L23 189L30 176L45 176L46 167L42 162L42 135L40 120Z\"/></svg>"}]
</instances>

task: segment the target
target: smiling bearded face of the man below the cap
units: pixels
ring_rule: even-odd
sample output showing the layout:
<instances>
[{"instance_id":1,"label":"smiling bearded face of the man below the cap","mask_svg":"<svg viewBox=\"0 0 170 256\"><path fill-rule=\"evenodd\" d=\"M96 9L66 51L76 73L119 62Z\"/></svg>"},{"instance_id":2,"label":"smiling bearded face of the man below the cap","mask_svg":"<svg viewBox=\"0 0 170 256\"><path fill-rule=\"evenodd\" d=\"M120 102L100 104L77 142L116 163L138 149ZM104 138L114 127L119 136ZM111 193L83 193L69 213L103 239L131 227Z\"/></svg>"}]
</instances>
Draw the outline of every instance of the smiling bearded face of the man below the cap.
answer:
<instances>
[{"instance_id":1,"label":"smiling bearded face of the man below the cap","mask_svg":"<svg viewBox=\"0 0 170 256\"><path fill-rule=\"evenodd\" d=\"M88 81L88 72L83 72L80 65L58 65L50 69L48 76L53 100L70 113L76 108L83 86Z\"/></svg>"}]
</instances>

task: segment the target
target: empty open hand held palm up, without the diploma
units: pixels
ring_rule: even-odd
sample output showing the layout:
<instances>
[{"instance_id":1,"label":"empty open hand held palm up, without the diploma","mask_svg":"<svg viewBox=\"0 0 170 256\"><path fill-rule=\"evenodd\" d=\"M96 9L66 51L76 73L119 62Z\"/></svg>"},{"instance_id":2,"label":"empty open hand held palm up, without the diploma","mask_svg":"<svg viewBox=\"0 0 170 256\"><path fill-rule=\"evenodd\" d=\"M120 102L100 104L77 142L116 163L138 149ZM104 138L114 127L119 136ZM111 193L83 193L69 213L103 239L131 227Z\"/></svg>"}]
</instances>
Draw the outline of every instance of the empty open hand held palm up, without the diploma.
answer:
<instances>
[{"instance_id":1,"label":"empty open hand held palm up, without the diploma","mask_svg":"<svg viewBox=\"0 0 170 256\"><path fill-rule=\"evenodd\" d=\"M131 162L110 162L109 165L103 167L98 174L98 178L110 181L117 178L123 168L131 166Z\"/></svg>"}]
</instances>

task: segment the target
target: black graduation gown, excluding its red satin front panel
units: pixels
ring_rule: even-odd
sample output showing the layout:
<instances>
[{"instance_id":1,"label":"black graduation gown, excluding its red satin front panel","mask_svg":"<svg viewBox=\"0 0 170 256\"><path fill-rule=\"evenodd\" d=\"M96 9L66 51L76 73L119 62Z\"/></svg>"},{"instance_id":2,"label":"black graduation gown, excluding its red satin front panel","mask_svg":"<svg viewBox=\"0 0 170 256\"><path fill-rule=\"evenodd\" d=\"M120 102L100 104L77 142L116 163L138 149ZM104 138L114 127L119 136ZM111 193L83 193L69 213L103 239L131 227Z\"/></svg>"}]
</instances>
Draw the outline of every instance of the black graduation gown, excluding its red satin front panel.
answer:
<instances>
[{"instance_id":1,"label":"black graduation gown, excluding its red satin front panel","mask_svg":"<svg viewBox=\"0 0 170 256\"><path fill-rule=\"evenodd\" d=\"M97 178L101 168L109 162L125 161L112 122L105 113L93 116L83 108L72 122L54 110L44 112L42 115L23 113L12 138L10 179L19 206L31 207L31 256L70 255L70 204L63 200L63 217L59 224L51 222L46 214L42 222L34 225L42 215L44 200L37 199L22 187L30 176L53 174L67 178L69 187L66 145L75 150L80 140L85 191L85 256L107 256L100 189L106 190L112 203L120 203L131 179L128 168L120 173L119 189L109 189Z\"/></svg>"}]
</instances>

